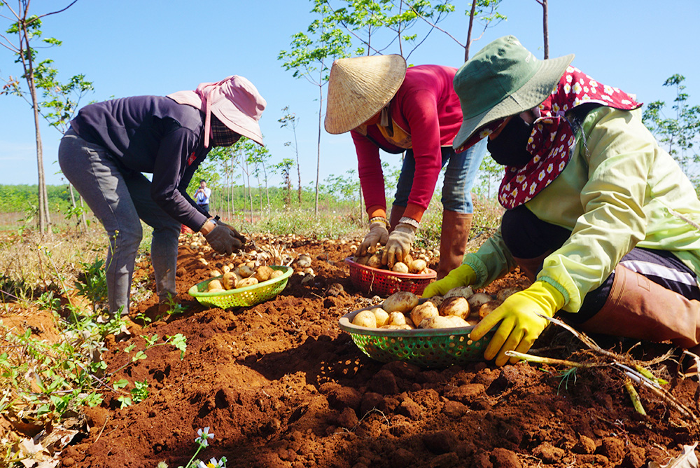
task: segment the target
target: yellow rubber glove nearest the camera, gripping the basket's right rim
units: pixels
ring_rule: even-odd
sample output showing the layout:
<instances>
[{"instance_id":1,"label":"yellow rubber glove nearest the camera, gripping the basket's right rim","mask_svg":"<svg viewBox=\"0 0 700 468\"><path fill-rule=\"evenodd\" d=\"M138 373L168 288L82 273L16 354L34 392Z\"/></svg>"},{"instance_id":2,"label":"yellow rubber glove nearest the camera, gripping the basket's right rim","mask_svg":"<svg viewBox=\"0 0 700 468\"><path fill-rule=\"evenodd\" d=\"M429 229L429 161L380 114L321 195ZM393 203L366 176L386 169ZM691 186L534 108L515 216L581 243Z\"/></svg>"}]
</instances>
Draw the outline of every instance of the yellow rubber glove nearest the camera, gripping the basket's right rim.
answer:
<instances>
[{"instance_id":1,"label":"yellow rubber glove nearest the camera, gripping the basket's right rim","mask_svg":"<svg viewBox=\"0 0 700 468\"><path fill-rule=\"evenodd\" d=\"M474 327L469 335L480 340L498 322L498 330L484 351L487 360L496 357L496 366L508 362L506 351L528 352L549 321L538 314L554 317L564 305L564 297L552 284L535 281L531 287L508 297L503 304ZM498 356L496 356L498 355ZM511 364L519 359L512 358Z\"/></svg>"}]
</instances>

